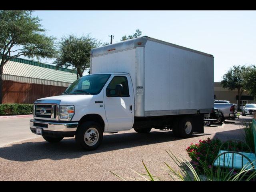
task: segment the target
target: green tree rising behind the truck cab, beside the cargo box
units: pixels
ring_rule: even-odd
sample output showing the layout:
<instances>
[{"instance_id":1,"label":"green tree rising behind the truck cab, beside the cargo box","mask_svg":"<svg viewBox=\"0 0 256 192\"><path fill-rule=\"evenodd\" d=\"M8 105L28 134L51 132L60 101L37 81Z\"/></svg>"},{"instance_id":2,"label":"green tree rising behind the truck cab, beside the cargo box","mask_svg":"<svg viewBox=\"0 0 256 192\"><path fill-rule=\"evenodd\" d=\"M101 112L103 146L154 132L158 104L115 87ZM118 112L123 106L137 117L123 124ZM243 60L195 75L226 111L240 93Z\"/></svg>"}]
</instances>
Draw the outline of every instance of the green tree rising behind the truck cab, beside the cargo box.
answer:
<instances>
[{"instance_id":1,"label":"green tree rising behind the truck cab, beside the cargo box","mask_svg":"<svg viewBox=\"0 0 256 192\"><path fill-rule=\"evenodd\" d=\"M77 70L76 77L82 77L84 70L90 68L91 49L100 45L100 42L89 34L79 38L74 35L64 36L54 63L57 67L72 67Z\"/></svg>"}]
</instances>

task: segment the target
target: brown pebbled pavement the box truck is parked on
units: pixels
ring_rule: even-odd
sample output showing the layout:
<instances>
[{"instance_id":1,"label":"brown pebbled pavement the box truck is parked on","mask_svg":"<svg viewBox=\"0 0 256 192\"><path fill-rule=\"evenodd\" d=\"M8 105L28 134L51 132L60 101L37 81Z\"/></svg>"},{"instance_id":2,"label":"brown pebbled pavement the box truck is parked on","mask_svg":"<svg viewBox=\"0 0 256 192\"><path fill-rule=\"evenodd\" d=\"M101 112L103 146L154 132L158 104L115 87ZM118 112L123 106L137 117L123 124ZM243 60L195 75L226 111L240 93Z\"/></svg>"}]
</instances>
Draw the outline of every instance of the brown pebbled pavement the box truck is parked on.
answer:
<instances>
[{"instance_id":1,"label":"brown pebbled pavement the box truck is parked on","mask_svg":"<svg viewBox=\"0 0 256 192\"><path fill-rule=\"evenodd\" d=\"M117 134L104 134L102 145L91 152L78 148L74 138L64 138L61 142L52 144L30 132L27 133L28 136L36 138L0 147L0 180L119 181L110 171L124 178L135 177L142 180L132 171L146 173L142 159L153 175L171 180L163 169L166 167L164 162L174 169L178 167L166 150L179 153L189 160L185 149L190 143L198 143L198 140L208 137L221 140L243 139L242 122L250 119L250 116L240 116L240 119L228 120L221 125L204 127L204 134L193 134L187 139L176 138L169 130L155 129L149 134L138 134L133 129ZM0 120L0 129L4 129L2 122ZM29 126L25 128L29 130ZM2 133L8 134L6 131Z\"/></svg>"}]
</instances>

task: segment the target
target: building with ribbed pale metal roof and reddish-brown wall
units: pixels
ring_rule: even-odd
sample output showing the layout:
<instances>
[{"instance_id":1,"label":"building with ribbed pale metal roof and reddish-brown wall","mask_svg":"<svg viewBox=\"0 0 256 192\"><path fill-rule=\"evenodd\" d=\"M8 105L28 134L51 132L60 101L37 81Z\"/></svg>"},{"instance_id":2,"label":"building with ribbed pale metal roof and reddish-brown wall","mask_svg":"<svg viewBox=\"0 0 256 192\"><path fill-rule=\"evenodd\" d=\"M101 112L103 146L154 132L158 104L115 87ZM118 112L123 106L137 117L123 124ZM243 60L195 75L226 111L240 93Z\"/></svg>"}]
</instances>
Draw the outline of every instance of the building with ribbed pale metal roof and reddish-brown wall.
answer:
<instances>
[{"instance_id":1,"label":"building with ribbed pale metal roof and reddish-brown wall","mask_svg":"<svg viewBox=\"0 0 256 192\"><path fill-rule=\"evenodd\" d=\"M1 60L1 57L0 57ZM4 65L2 103L34 103L62 94L76 80L76 71L12 58Z\"/></svg>"}]
</instances>

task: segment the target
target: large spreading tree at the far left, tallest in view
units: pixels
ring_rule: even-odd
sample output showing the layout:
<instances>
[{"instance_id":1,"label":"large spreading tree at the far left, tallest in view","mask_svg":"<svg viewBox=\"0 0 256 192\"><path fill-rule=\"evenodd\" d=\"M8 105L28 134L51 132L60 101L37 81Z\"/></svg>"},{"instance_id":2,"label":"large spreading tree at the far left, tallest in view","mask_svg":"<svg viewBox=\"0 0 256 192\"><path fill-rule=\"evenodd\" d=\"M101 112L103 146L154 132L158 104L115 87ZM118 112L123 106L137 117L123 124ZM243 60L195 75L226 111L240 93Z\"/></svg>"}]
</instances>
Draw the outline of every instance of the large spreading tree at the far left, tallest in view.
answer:
<instances>
[{"instance_id":1,"label":"large spreading tree at the far left, tallest in view","mask_svg":"<svg viewBox=\"0 0 256 192\"><path fill-rule=\"evenodd\" d=\"M55 38L45 34L40 19L32 16L32 11L0 10L0 103L4 65L11 58L52 58L56 51Z\"/></svg>"}]
</instances>

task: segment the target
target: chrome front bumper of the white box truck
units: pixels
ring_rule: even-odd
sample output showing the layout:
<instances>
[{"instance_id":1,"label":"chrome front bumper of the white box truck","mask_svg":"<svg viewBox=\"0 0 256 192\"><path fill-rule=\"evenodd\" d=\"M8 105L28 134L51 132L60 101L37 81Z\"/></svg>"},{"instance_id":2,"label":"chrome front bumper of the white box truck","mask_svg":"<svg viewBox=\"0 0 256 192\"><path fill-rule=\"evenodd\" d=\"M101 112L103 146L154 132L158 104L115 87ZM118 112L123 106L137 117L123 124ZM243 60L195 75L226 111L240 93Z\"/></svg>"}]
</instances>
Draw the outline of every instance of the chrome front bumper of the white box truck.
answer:
<instances>
[{"instance_id":1,"label":"chrome front bumper of the white box truck","mask_svg":"<svg viewBox=\"0 0 256 192\"><path fill-rule=\"evenodd\" d=\"M72 137L76 133L78 122L45 122L31 119L30 130L36 133L36 128L42 129L42 135Z\"/></svg>"}]
</instances>

